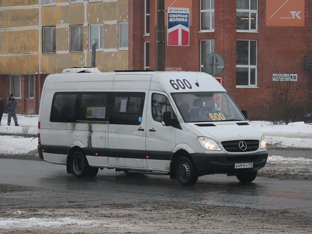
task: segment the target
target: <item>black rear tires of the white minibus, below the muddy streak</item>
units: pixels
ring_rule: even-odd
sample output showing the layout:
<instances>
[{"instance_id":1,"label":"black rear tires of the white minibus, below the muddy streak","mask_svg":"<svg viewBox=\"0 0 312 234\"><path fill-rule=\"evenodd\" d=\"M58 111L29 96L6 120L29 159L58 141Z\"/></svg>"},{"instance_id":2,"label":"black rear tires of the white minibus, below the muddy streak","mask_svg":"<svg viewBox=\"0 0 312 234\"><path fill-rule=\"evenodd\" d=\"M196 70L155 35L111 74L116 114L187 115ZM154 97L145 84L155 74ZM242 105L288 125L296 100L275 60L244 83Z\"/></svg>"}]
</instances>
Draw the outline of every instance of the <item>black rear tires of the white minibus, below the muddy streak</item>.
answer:
<instances>
[{"instance_id":1,"label":"black rear tires of the white minibus, below the muddy streak","mask_svg":"<svg viewBox=\"0 0 312 234\"><path fill-rule=\"evenodd\" d=\"M90 167L84 154L76 151L71 158L71 171L77 178L94 177L97 175L99 168Z\"/></svg>"}]
</instances>

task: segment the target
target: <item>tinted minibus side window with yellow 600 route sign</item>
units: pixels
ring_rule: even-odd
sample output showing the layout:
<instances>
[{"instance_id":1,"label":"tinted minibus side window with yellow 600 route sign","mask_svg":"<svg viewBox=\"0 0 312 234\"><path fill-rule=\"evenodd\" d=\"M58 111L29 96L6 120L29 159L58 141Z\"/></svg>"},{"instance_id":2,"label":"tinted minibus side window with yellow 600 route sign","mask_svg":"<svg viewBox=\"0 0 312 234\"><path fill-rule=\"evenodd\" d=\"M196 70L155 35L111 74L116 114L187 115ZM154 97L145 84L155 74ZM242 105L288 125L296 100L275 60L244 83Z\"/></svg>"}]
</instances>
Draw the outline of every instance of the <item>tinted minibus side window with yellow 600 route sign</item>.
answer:
<instances>
[{"instance_id":1,"label":"tinted minibus side window with yellow 600 route sign","mask_svg":"<svg viewBox=\"0 0 312 234\"><path fill-rule=\"evenodd\" d=\"M77 120L108 121L108 93L82 93Z\"/></svg>"}]
</instances>

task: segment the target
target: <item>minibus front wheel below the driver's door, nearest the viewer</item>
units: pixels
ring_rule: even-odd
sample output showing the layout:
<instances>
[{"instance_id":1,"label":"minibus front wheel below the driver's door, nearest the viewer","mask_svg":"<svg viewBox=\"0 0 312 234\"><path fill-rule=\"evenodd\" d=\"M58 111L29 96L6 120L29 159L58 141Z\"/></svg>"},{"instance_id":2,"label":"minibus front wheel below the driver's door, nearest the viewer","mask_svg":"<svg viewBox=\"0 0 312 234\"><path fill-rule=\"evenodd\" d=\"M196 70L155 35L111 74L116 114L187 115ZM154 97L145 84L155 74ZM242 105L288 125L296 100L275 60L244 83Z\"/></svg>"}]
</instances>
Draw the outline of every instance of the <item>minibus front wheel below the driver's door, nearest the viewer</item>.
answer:
<instances>
[{"instance_id":1,"label":"minibus front wheel below the driver's door, nearest the viewer","mask_svg":"<svg viewBox=\"0 0 312 234\"><path fill-rule=\"evenodd\" d=\"M176 164L175 173L181 185L193 185L198 180L198 174L188 157L181 157Z\"/></svg>"}]
</instances>

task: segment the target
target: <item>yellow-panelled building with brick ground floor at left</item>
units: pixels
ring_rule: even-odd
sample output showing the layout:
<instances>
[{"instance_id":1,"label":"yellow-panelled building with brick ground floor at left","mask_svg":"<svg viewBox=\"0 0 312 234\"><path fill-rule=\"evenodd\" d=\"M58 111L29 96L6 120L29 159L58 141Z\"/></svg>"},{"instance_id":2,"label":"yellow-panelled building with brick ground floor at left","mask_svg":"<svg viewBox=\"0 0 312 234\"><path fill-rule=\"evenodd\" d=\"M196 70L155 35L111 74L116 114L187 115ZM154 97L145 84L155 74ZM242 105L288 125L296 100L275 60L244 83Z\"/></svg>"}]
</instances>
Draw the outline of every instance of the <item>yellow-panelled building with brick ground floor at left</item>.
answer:
<instances>
[{"instance_id":1,"label":"yellow-panelled building with brick ground floor at left","mask_svg":"<svg viewBox=\"0 0 312 234\"><path fill-rule=\"evenodd\" d=\"M100 71L128 69L128 0L1 0L2 100L38 114L45 77L90 67L94 43Z\"/></svg>"}]
</instances>

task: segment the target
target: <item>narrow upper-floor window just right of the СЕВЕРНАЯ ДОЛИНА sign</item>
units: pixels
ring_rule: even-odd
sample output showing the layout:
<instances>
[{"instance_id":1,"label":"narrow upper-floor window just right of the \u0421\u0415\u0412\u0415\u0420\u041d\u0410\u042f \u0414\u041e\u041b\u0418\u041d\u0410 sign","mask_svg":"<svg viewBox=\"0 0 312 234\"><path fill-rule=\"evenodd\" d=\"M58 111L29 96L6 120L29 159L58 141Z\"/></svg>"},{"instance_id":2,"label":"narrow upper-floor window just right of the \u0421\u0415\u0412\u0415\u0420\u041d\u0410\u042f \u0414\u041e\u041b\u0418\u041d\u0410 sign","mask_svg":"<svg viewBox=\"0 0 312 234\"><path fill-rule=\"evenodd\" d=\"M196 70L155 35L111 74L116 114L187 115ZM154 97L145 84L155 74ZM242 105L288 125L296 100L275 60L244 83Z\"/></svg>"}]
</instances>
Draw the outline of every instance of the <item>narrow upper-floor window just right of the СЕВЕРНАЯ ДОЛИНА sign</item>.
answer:
<instances>
[{"instance_id":1,"label":"narrow upper-floor window just right of the \u0421\u0415\u0412\u0415\u0420\u041d\u0410\u042f \u0414\u041e\u041b\u0418\u041d\u0410 sign","mask_svg":"<svg viewBox=\"0 0 312 234\"><path fill-rule=\"evenodd\" d=\"M200 1L200 30L214 30L214 0Z\"/></svg>"}]
</instances>

